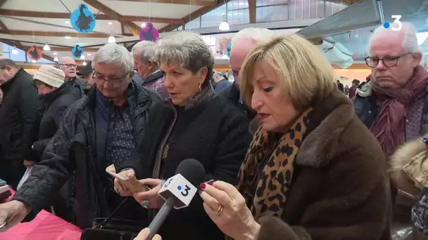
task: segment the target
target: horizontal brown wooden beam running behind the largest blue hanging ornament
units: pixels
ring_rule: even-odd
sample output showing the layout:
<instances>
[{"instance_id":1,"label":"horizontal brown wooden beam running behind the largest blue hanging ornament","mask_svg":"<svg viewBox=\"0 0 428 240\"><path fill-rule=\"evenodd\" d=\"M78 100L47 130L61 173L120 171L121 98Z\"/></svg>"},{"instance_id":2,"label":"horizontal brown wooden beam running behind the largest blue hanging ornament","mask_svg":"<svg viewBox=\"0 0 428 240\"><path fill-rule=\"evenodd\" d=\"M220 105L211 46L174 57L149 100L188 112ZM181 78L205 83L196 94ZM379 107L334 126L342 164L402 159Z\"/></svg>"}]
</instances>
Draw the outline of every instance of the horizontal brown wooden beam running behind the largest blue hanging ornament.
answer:
<instances>
[{"instance_id":1,"label":"horizontal brown wooden beam running behind the largest blue hanging ornament","mask_svg":"<svg viewBox=\"0 0 428 240\"><path fill-rule=\"evenodd\" d=\"M1 0L0 0L1 1ZM70 19L70 13L51 13L51 12L36 12L36 11L22 11L22 10L9 10L0 9L0 15L13 16L13 17L28 17L28 18L59 18L59 19ZM120 15L119 18L113 19L111 16L106 14L96 15L96 20L118 20L120 21L134 21L134 22L151 22L159 23L174 23L177 19L173 18L149 18L144 16L127 16ZM180 21L180 19L178 20Z\"/></svg>"}]
</instances>

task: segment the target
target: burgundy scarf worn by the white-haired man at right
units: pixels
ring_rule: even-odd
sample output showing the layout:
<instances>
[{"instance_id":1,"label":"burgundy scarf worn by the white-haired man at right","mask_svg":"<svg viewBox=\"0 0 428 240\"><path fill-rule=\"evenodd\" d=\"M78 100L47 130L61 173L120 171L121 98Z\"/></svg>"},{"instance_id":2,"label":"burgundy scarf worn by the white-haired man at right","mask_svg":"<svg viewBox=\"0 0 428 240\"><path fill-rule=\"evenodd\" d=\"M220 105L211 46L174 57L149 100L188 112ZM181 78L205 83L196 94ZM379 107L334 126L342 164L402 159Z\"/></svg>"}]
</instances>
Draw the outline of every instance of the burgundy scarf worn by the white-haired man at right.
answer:
<instances>
[{"instance_id":1,"label":"burgundy scarf worn by the white-haired man at right","mask_svg":"<svg viewBox=\"0 0 428 240\"><path fill-rule=\"evenodd\" d=\"M370 130L380 142L386 156L391 156L403 143L405 116L415 97L424 91L427 84L428 72L421 65L415 68L413 76L403 88L382 88L376 81L372 81L372 90L382 102Z\"/></svg>"}]
</instances>

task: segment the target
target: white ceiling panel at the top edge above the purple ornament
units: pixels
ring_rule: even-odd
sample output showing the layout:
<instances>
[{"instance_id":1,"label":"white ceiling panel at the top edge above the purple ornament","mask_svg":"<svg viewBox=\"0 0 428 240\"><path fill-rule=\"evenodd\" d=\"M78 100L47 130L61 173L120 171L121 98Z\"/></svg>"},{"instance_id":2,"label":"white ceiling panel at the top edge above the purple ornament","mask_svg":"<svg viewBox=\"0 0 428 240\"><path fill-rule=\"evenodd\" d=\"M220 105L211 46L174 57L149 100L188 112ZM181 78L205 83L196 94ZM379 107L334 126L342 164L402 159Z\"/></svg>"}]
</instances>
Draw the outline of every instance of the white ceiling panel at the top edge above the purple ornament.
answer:
<instances>
[{"instance_id":1,"label":"white ceiling panel at the top edge above the purple ornament","mask_svg":"<svg viewBox=\"0 0 428 240\"><path fill-rule=\"evenodd\" d=\"M101 1L111 9L122 15L135 15L153 18L173 18L179 19L192 13L202 6L183 4L156 4L147 2L127 1Z\"/></svg>"}]
</instances>

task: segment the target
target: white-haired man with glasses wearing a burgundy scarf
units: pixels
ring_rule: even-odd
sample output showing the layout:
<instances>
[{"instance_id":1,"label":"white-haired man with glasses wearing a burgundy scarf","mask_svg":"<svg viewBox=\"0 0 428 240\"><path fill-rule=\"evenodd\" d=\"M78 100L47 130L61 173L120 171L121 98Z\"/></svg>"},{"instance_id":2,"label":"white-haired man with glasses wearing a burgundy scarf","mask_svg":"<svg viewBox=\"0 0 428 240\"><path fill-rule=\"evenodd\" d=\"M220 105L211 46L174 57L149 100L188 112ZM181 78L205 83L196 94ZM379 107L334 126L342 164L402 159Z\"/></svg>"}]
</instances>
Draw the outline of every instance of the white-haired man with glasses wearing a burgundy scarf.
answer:
<instances>
[{"instance_id":1,"label":"white-haired man with glasses wearing a burgundy scarf","mask_svg":"<svg viewBox=\"0 0 428 240\"><path fill-rule=\"evenodd\" d=\"M370 39L370 88L358 91L355 112L379 140L389 157L403 144L428 131L428 72L420 65L422 53L415 27L402 22L400 31L383 26ZM393 26L394 27L394 26ZM359 90L361 90L360 88Z\"/></svg>"}]
</instances>

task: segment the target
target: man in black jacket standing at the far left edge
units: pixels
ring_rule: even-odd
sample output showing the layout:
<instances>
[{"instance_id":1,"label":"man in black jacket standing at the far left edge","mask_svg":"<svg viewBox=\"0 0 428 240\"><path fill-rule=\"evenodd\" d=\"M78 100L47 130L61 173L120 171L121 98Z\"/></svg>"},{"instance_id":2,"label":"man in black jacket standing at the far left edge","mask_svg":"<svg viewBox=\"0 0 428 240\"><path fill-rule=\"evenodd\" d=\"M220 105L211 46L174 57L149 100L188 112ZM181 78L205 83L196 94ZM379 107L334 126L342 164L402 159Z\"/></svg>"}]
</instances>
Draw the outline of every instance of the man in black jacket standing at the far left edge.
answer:
<instances>
[{"instance_id":1,"label":"man in black jacket standing at the far left edge","mask_svg":"<svg viewBox=\"0 0 428 240\"><path fill-rule=\"evenodd\" d=\"M31 146L37 140L40 106L32 76L18 69L8 58L0 59L0 178L13 188L18 186L25 165L32 159Z\"/></svg>"}]
</instances>

